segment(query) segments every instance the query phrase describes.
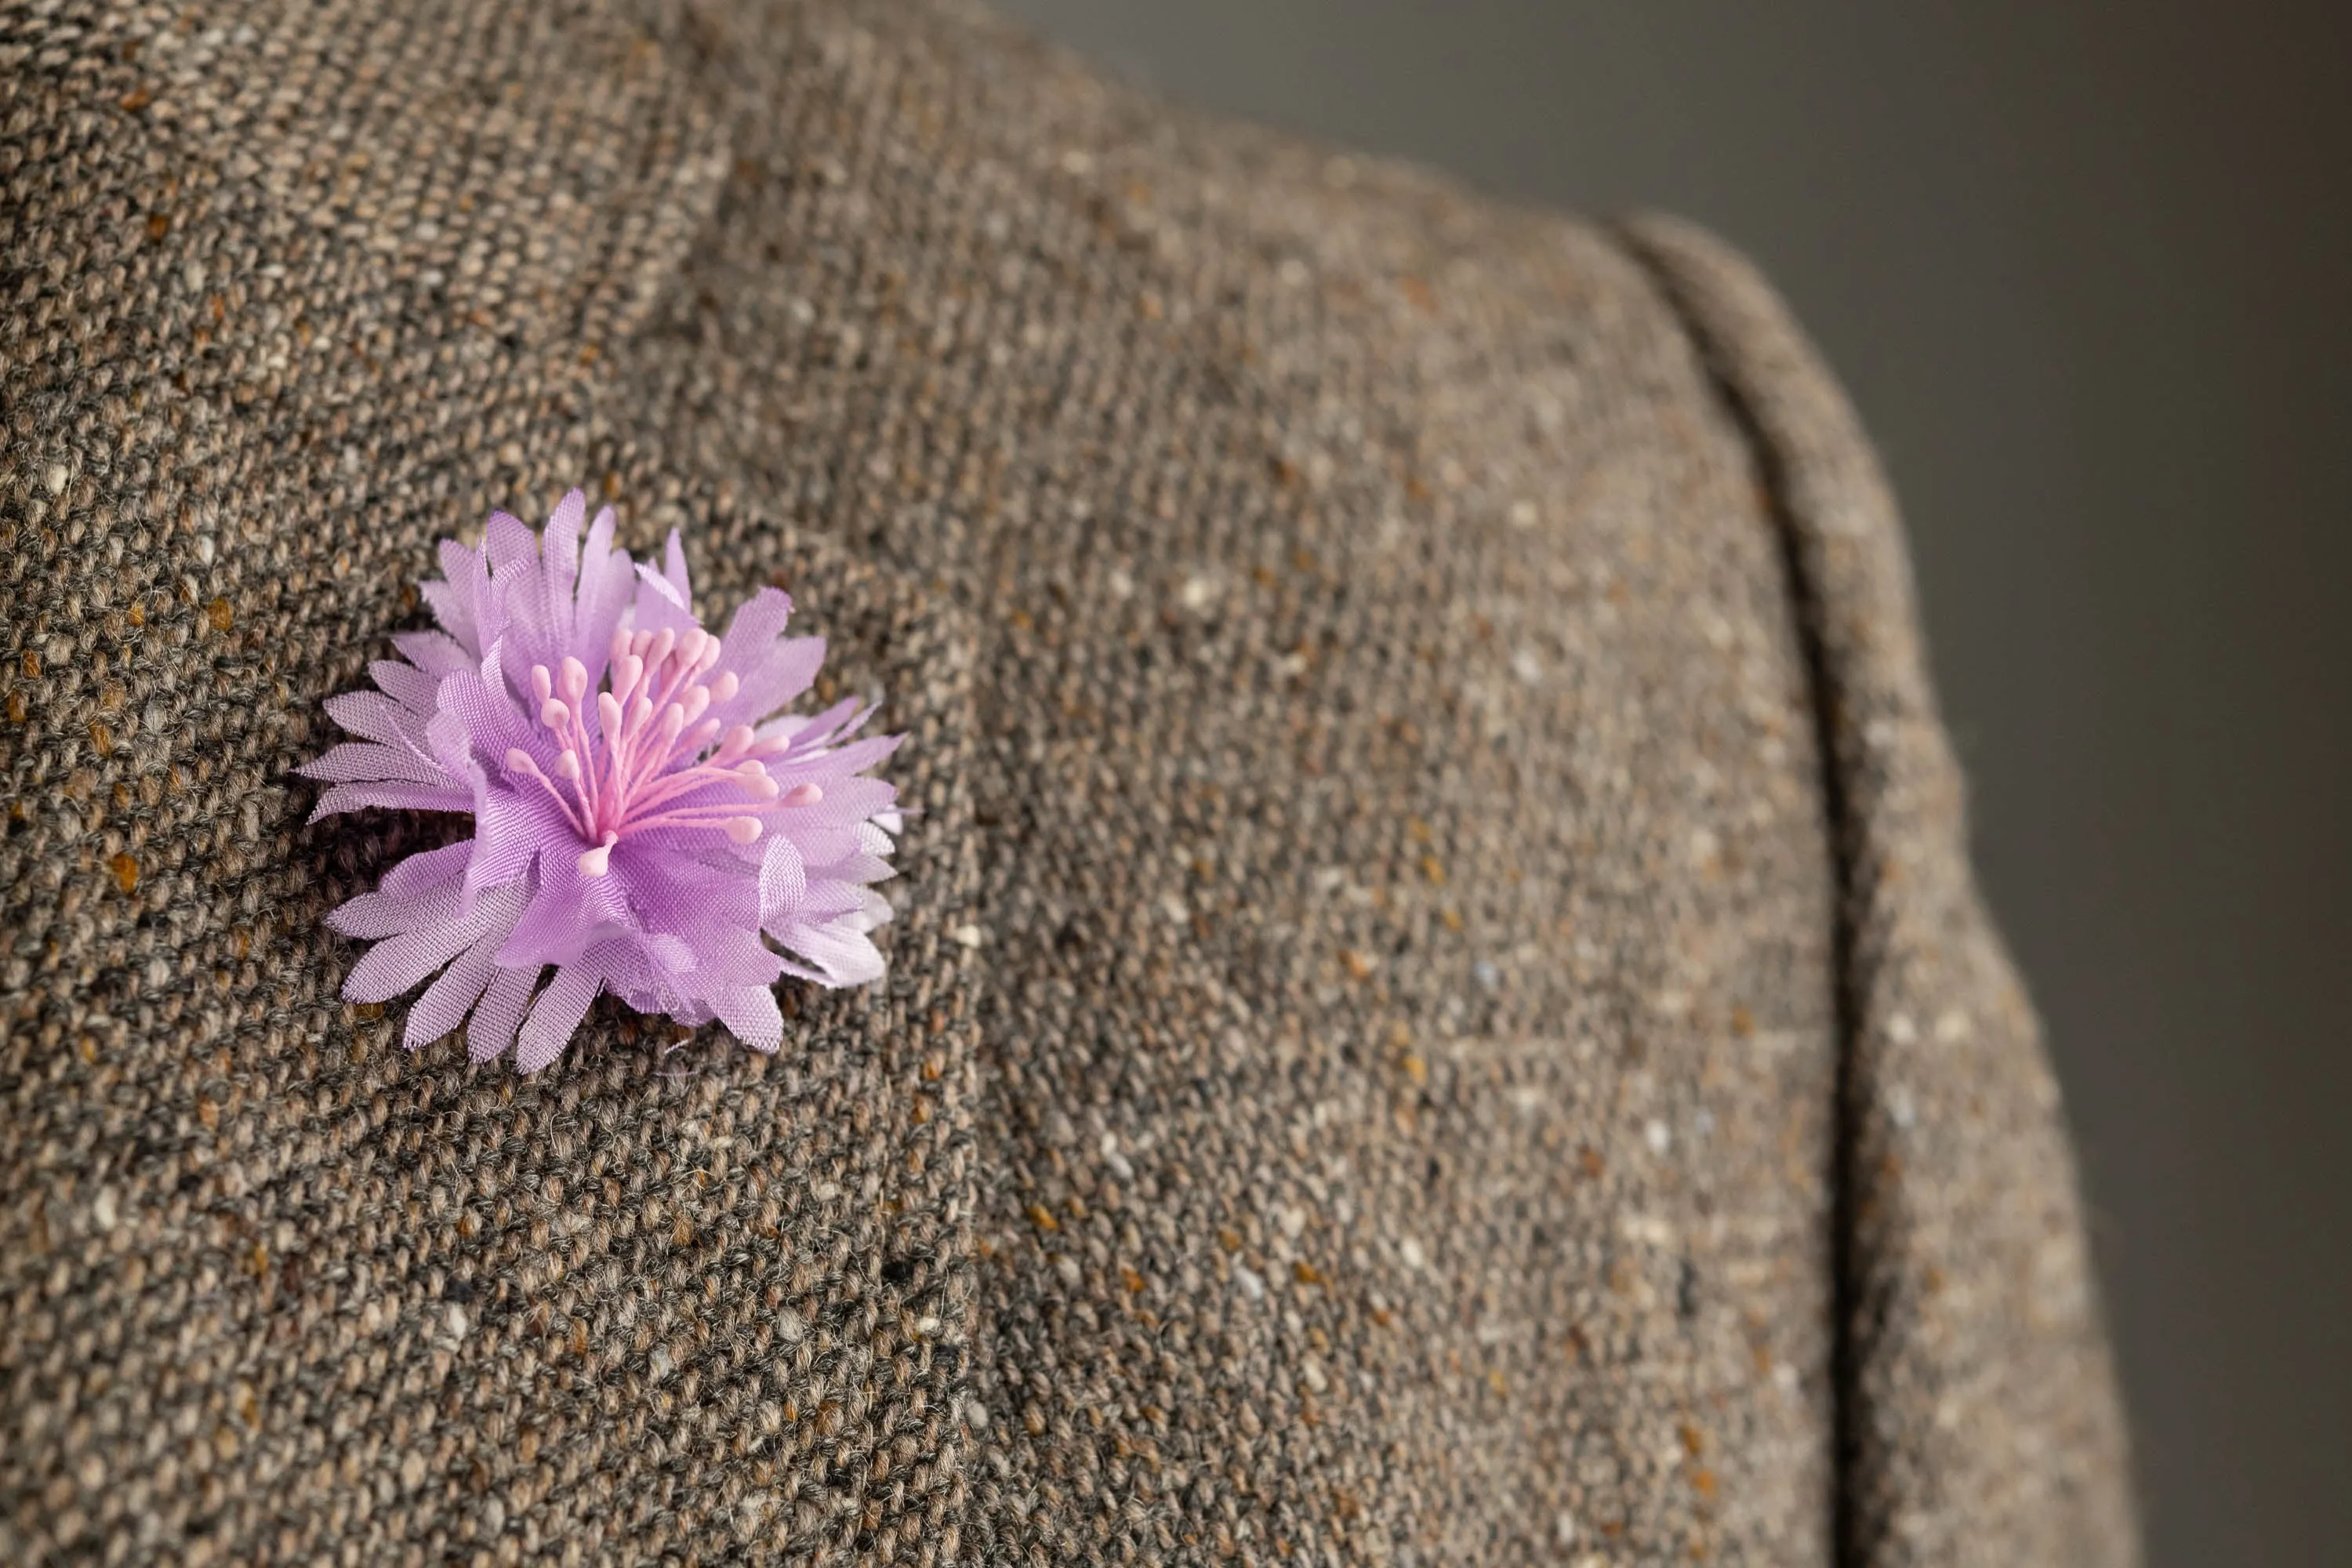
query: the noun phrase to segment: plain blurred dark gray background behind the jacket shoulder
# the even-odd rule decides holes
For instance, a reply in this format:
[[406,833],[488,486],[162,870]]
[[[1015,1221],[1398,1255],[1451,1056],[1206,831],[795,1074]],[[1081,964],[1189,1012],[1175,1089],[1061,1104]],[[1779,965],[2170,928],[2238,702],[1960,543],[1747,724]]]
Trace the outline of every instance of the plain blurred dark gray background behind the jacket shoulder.
[[1762,261],[1905,501],[2152,1563],[2352,1563],[2352,7],[1000,2]]

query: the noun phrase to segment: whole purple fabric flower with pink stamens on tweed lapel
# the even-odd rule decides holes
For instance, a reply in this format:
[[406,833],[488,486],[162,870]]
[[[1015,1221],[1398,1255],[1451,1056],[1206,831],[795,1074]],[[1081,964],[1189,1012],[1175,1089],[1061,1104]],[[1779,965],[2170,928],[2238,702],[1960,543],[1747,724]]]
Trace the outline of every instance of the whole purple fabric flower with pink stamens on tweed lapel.
[[543,536],[492,512],[480,550],[442,541],[423,583],[440,630],[393,637],[374,691],[327,701],[358,738],[301,769],[329,785],[310,820],[473,816],[470,839],[327,917],[374,943],[343,997],[430,978],[409,1048],[463,1023],[473,1060],[515,1046],[524,1072],[562,1056],[600,992],[774,1051],[779,978],[882,973],[873,884],[901,818],[863,773],[901,738],[856,738],[873,717],[856,701],[779,712],[826,658],[821,637],[783,637],[793,599],[762,588],[713,637],[677,534],[654,571],[612,548],[612,508],[583,548],[586,510],[572,491]]

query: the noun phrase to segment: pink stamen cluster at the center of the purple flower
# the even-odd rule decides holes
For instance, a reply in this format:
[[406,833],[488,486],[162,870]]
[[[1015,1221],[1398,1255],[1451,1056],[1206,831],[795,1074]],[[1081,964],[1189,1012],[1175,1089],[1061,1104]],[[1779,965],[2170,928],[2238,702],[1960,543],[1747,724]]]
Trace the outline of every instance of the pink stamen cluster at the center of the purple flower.
[[[717,661],[720,639],[699,625],[684,635],[670,628],[616,630],[604,691],[595,693],[595,733],[581,719],[586,665],[569,656],[553,675],[532,665],[539,724],[555,736],[555,778],[539,771],[522,748],[506,752],[506,766],[562,806],[588,844],[581,851],[583,877],[602,877],[612,867],[612,846],[633,832],[708,827],[750,844],[767,813],[823,799],[814,783],[783,790],[769,778],[762,759],[788,750],[790,741],[760,741],[748,724],[722,733],[717,719],[703,717],[713,703],[736,693],[734,670],[710,675]],[[717,750],[710,750],[713,741]],[[687,799],[713,785],[727,785],[729,797]]]

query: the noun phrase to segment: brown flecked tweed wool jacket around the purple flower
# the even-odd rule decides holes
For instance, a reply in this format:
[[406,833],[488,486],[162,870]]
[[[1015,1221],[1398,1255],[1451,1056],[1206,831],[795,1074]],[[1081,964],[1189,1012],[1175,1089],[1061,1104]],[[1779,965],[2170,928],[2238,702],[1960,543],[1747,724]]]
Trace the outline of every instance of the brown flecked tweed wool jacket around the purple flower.
[[[774,1058],[397,1048],[430,545],[788,583]],[[2053,1079],[1778,303],[985,14],[0,2],[0,1559],[2131,1563]]]

